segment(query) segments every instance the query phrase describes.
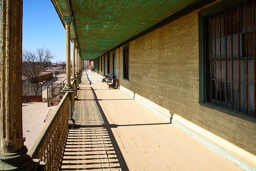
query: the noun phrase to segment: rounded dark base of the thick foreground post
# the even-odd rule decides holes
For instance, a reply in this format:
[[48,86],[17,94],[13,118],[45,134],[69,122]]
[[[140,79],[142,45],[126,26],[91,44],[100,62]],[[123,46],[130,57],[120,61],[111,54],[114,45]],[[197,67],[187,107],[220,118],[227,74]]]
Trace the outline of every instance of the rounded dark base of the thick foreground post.
[[34,162],[29,155],[26,146],[17,153],[0,153],[1,171],[32,171]]

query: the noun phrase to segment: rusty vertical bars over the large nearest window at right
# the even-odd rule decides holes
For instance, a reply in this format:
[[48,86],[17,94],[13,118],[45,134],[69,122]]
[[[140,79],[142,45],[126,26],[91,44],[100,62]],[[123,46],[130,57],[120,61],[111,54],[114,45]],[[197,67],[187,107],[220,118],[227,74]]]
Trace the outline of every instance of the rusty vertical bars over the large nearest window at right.
[[254,3],[245,1],[206,17],[210,76],[207,101],[256,117]]

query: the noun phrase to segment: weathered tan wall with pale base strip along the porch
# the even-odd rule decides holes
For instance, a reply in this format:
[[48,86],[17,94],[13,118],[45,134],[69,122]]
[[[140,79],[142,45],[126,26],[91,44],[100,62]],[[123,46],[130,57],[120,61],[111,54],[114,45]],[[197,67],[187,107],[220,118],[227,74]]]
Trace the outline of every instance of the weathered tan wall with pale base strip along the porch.
[[118,48],[121,89],[256,166],[256,123],[198,103],[200,10],[130,42],[129,81],[122,79],[123,48]]

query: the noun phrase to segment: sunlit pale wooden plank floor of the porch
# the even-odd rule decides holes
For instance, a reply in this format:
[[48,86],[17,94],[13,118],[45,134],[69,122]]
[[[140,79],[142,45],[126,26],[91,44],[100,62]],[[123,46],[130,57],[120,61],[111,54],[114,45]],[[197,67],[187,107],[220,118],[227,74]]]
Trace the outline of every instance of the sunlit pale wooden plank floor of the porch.
[[84,72],[62,171],[242,170],[96,73]]

